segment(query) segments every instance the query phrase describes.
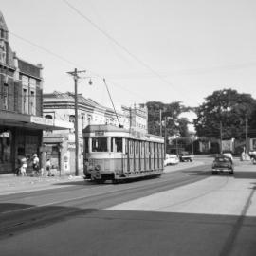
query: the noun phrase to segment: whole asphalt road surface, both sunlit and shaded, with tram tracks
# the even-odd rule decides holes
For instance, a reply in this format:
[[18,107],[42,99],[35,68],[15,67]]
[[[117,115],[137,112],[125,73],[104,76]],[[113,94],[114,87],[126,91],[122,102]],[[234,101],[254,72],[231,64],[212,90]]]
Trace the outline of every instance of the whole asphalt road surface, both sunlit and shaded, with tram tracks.
[[0,254],[256,255],[256,174],[236,169],[171,166],[160,178],[1,196]]

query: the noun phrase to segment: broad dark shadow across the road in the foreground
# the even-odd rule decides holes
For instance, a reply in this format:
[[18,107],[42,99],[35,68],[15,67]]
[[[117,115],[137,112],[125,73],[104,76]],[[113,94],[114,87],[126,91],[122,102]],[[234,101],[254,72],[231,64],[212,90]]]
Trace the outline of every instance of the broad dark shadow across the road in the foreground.
[[0,214],[2,255],[256,255],[255,217],[32,207],[0,204],[25,209]]

